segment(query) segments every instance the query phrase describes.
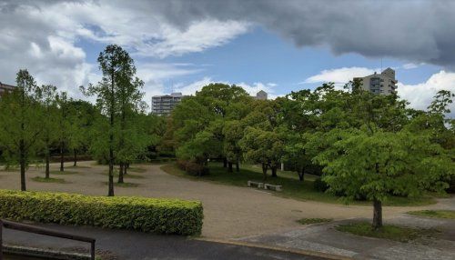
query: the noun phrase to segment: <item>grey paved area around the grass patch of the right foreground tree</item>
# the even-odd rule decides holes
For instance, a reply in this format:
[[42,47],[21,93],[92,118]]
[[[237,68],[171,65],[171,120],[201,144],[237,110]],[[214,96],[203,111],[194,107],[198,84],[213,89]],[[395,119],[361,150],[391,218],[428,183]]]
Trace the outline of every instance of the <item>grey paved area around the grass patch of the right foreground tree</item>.
[[353,259],[455,259],[455,220],[411,215],[401,215],[390,219],[388,224],[432,228],[440,231],[434,237],[421,237],[408,243],[350,235],[335,229],[335,225],[352,221],[370,221],[370,219],[351,219],[326,225],[307,225],[276,234],[243,237],[238,241],[343,255]]

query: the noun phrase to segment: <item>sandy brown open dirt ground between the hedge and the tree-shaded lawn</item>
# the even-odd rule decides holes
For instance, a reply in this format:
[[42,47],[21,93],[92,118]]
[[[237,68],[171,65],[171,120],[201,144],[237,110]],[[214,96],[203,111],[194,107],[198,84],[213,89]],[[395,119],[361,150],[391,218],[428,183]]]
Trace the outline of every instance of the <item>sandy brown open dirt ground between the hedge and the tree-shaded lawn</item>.
[[[58,191],[85,195],[106,195],[106,166],[84,162],[77,168],[76,175],[54,175],[64,178],[67,184],[37,183],[30,178],[43,175],[44,169],[31,168],[27,173],[28,190]],[[136,166],[136,165],[135,165]],[[268,192],[247,187],[217,185],[197,182],[167,175],[159,165],[140,165],[147,169],[143,173],[131,173],[141,178],[126,178],[126,182],[138,184],[136,187],[116,187],[116,195],[140,195],[147,197],[167,197],[200,200],[204,205],[204,227],[202,235],[210,238],[235,238],[260,235],[270,232],[291,230],[300,225],[296,220],[303,217],[324,217],[336,220],[353,217],[370,217],[369,206],[331,205],[319,202],[302,202],[272,195]],[[53,170],[58,165],[52,165]],[[19,189],[19,175],[0,171],[0,188]],[[410,210],[432,208],[439,205],[420,207],[385,207],[386,219],[396,217]]]

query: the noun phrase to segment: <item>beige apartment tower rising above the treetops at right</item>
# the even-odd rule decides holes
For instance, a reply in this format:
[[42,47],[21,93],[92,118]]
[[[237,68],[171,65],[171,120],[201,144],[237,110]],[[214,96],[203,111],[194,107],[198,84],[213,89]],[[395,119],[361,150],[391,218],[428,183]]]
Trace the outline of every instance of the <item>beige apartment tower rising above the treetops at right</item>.
[[395,71],[391,68],[386,68],[380,74],[375,72],[373,75],[354,79],[360,79],[361,87],[373,94],[390,95],[397,92],[398,80],[395,79]]

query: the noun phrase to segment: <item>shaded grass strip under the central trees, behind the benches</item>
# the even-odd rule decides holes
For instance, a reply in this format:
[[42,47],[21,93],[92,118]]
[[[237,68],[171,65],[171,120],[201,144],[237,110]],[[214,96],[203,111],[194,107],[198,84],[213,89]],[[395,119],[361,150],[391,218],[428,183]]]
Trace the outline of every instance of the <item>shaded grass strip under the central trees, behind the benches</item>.
[[[211,181],[225,185],[247,186],[248,181],[263,181],[262,170],[256,165],[241,165],[240,172],[227,173],[227,169],[221,163],[210,163],[209,175],[202,177],[188,175],[185,171],[177,167],[177,164],[167,164],[161,166],[161,169],[167,174],[185,177],[195,181]],[[338,196],[330,195],[328,193],[319,192],[313,186],[314,180],[317,178],[315,175],[305,175],[305,181],[298,181],[297,173],[281,172],[278,171],[278,177],[272,178],[270,171],[268,171],[268,178],[265,181],[271,185],[282,185],[282,192],[269,191],[275,195],[288,197],[298,200],[312,200],[331,204],[344,204],[345,202]],[[436,203],[436,200],[431,196],[421,198],[407,198],[407,197],[391,197],[384,205],[431,205]],[[354,201],[349,205],[371,205],[368,201]]]

